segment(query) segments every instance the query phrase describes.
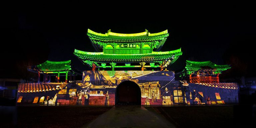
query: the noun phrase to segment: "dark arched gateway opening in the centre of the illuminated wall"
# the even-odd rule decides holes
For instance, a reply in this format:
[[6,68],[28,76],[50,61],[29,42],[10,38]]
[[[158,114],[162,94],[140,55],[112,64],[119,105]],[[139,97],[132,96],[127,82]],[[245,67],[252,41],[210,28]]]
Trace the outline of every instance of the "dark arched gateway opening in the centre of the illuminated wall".
[[141,105],[139,85],[132,81],[121,82],[116,88],[115,105]]

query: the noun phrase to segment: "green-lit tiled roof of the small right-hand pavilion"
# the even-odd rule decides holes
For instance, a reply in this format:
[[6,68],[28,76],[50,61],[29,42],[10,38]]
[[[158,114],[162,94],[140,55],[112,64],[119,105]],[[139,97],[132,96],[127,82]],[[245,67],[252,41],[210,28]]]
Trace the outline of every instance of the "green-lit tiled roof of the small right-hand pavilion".
[[221,72],[221,71],[231,68],[229,65],[217,65],[217,64],[212,63],[211,61],[196,62],[196,61],[189,61],[189,60],[186,61],[185,68],[188,71],[198,71],[198,70],[200,70],[202,68],[206,68],[206,67],[212,68],[212,69],[214,69],[214,71],[217,71],[217,72]]

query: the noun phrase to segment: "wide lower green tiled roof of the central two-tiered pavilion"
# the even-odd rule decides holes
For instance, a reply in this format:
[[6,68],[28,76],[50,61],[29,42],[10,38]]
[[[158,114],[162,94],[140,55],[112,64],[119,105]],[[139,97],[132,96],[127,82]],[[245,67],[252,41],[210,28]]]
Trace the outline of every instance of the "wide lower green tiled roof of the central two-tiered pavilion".
[[103,52],[85,52],[76,50],[74,54],[84,63],[87,61],[96,63],[127,63],[127,62],[161,62],[170,59],[171,64],[174,63],[180,55],[181,49],[167,51],[167,52],[152,52],[149,54],[104,54]]

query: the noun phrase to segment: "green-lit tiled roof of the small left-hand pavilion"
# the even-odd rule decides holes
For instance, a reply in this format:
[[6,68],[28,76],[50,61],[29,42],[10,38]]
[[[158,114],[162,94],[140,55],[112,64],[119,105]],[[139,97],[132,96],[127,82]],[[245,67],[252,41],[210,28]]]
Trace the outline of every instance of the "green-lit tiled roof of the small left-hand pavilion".
[[29,66],[28,71],[40,72],[40,73],[56,73],[65,72],[71,70],[71,60],[68,61],[45,61],[42,64]]

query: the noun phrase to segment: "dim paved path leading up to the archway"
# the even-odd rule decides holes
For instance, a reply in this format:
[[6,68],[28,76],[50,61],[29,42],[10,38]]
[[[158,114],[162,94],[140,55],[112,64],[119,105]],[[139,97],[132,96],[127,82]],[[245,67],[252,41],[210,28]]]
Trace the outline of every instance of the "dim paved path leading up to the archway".
[[161,115],[143,106],[113,106],[83,128],[175,128]]

